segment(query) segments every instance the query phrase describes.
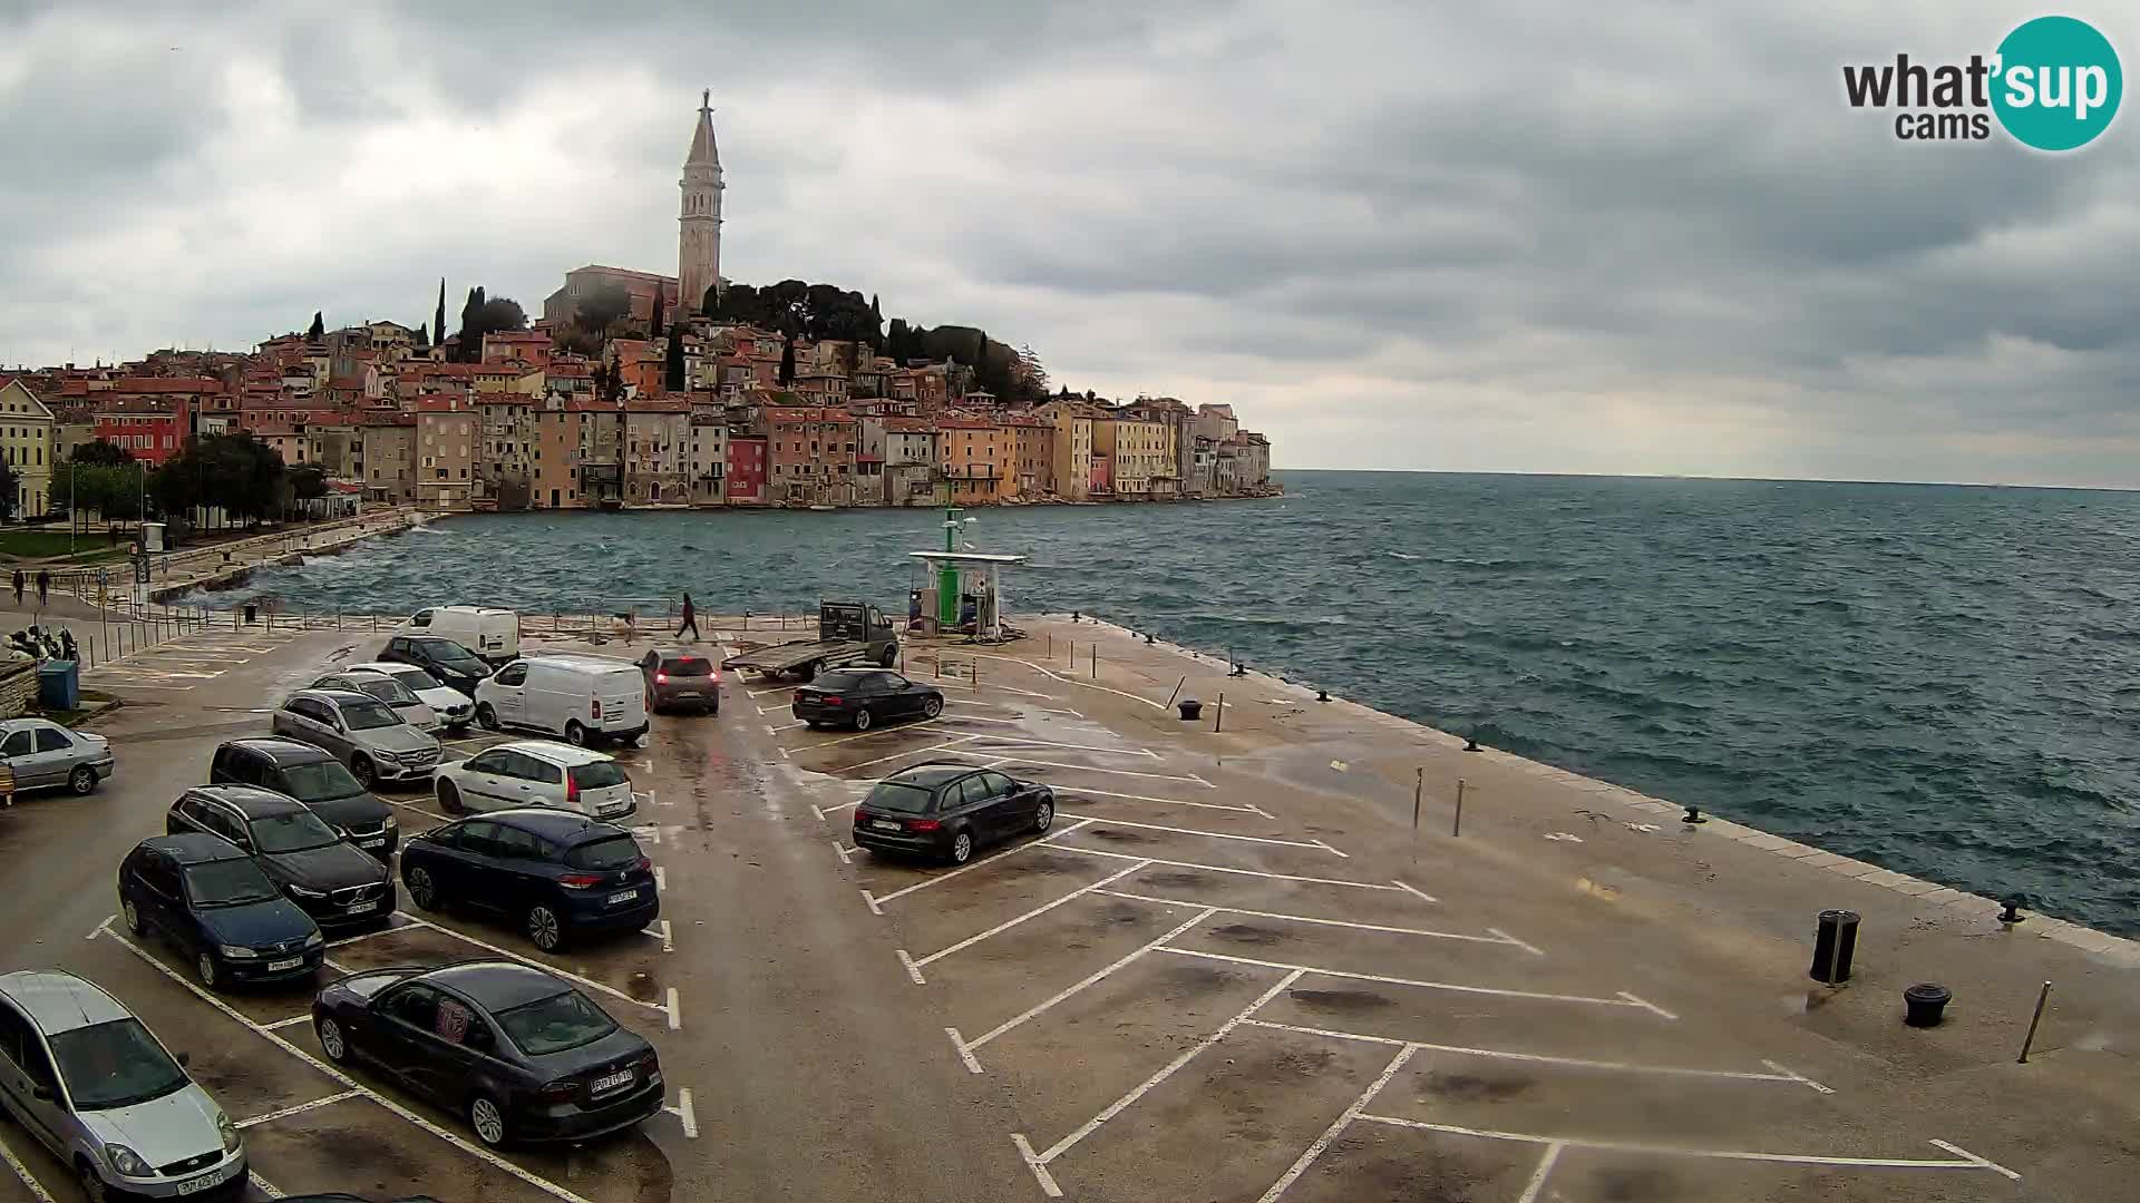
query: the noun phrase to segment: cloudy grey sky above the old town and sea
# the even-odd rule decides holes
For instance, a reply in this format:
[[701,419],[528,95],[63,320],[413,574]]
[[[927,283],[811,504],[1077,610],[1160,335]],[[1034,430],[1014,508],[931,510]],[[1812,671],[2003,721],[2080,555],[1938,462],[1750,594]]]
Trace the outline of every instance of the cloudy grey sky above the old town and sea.
[[[2061,11],[2140,68],[2140,9]],[[2140,488],[2140,111],[2042,154],[1843,98],[2042,13],[0,0],[0,364],[674,274],[710,88],[730,280],[1230,402],[1280,469]]]

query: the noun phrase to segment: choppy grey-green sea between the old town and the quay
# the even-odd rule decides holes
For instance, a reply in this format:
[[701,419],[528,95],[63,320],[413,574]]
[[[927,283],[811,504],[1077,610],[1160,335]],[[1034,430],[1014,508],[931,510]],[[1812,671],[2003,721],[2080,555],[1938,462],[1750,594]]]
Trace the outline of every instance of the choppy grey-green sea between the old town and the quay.
[[[969,509],[1083,610],[1547,764],[2140,935],[2140,494],[1275,473],[1284,497]],[[905,612],[939,509],[437,518],[231,604]]]

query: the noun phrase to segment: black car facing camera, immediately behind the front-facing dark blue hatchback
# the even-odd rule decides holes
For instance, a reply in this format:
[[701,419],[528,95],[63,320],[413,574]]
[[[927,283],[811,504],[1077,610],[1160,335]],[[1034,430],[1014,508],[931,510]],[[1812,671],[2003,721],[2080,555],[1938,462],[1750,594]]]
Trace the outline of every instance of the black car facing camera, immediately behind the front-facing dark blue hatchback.
[[171,803],[165,831],[229,839],[327,931],[385,923],[394,875],[297,798],[250,786],[195,786]]

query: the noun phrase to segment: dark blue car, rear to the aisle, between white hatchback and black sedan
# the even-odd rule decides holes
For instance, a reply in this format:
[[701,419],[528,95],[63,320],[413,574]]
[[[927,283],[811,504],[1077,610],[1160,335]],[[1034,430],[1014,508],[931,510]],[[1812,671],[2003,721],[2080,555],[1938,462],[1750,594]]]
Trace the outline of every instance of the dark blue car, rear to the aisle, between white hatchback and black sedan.
[[424,910],[467,903],[501,912],[544,953],[576,935],[640,929],[661,916],[653,861],[629,831],[539,807],[409,837],[402,882]]

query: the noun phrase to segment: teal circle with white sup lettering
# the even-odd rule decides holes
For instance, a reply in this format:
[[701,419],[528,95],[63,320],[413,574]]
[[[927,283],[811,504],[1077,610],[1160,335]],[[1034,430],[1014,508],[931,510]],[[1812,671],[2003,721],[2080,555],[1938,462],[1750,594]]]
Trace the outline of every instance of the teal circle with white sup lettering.
[[2125,94],[2119,51],[2095,26],[2037,17],[1999,43],[1992,111],[2022,146],[2076,150],[2110,128]]

